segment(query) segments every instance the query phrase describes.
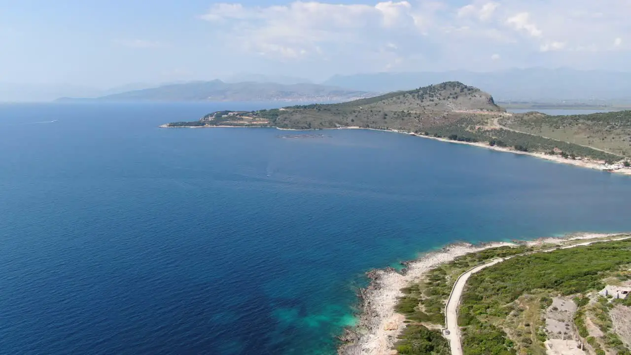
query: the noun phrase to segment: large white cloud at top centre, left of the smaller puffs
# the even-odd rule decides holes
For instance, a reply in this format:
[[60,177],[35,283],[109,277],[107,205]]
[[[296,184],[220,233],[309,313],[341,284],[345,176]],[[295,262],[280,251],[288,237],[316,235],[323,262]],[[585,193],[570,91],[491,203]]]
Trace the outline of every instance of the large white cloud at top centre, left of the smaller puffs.
[[418,32],[416,23],[420,19],[413,15],[413,6],[408,1],[386,1],[374,6],[297,1],[285,6],[250,8],[241,4],[215,4],[201,18],[228,25],[226,30],[232,32],[232,45],[290,60],[322,56],[322,46],[327,44],[352,46],[371,36],[373,40],[386,41],[389,36],[385,33],[401,28]]

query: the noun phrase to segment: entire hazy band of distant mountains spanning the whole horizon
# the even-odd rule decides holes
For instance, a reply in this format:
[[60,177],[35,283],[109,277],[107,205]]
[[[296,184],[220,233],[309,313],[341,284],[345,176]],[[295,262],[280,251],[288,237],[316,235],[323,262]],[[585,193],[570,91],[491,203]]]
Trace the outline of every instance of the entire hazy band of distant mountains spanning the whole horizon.
[[[51,101],[59,97],[91,100],[297,100],[322,102],[370,93],[412,90],[445,81],[462,81],[507,101],[620,100],[631,102],[631,73],[576,69],[509,69],[489,73],[444,71],[335,75],[321,83],[305,78],[240,73],[223,81],[131,83],[107,90],[77,85],[0,83],[0,102]],[[68,100],[68,99],[64,99]],[[75,99],[73,99],[75,100]]]

